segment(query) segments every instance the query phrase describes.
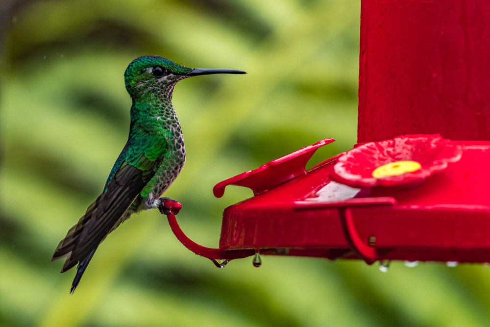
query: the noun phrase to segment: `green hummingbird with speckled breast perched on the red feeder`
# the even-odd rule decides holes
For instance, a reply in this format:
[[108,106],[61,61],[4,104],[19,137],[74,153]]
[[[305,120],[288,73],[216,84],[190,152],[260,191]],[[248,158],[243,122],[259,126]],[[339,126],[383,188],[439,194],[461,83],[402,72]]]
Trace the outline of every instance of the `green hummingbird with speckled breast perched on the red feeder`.
[[77,270],[73,293],[98,245],[132,214],[159,208],[171,214],[161,197],[185,163],[184,139],[172,105],[173,88],[184,78],[209,74],[246,74],[231,69],[179,65],[160,56],[133,60],[124,72],[131,96],[129,136],[102,193],[59,243],[51,261],[66,258],[61,273]]

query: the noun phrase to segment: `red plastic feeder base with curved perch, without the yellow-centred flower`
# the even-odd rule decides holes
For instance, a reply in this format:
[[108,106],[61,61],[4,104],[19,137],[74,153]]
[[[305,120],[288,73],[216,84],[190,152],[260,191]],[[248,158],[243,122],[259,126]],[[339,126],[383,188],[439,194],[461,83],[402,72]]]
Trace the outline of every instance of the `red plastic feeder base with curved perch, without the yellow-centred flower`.
[[490,142],[454,142],[461,160],[421,184],[356,189],[331,180],[337,159],[305,171],[311,155],[332,141],[217,184],[218,197],[227,185],[249,187],[255,196],[224,210],[219,249],[183,243],[221,260],[260,252],[368,263],[490,262],[490,174],[481,173],[490,164]]

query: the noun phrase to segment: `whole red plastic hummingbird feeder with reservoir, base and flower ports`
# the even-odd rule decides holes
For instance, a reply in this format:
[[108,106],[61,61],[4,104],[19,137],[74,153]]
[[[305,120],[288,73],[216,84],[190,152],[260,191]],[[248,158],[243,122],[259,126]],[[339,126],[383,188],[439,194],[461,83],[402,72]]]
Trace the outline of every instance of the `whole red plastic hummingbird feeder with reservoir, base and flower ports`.
[[332,139],[218,183],[217,197],[254,197],[224,210],[218,249],[169,215],[188,249],[218,266],[259,252],[490,262],[490,2],[363,0],[359,63],[359,143],[308,171]]

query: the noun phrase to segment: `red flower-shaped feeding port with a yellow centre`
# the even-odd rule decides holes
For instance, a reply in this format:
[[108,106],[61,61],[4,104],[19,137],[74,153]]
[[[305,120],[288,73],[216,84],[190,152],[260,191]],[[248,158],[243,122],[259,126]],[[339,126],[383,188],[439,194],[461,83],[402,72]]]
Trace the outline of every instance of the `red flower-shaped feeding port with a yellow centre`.
[[409,186],[461,159],[462,150],[441,135],[401,135],[344,152],[331,179],[355,188]]

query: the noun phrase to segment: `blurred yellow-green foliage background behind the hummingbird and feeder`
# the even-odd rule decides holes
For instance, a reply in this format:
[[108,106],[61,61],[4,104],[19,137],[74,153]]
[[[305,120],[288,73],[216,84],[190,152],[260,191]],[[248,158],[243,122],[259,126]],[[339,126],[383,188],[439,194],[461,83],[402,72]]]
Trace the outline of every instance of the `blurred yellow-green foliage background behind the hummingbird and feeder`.
[[158,54],[248,75],[187,79],[173,103],[187,163],[167,196],[197,243],[251,196],[212,187],[323,138],[356,139],[359,0],[1,1],[1,326],[488,326],[490,268],[264,256],[224,269],[185,249],[157,210],[74,270],[50,262],[127,138],[123,72]]

